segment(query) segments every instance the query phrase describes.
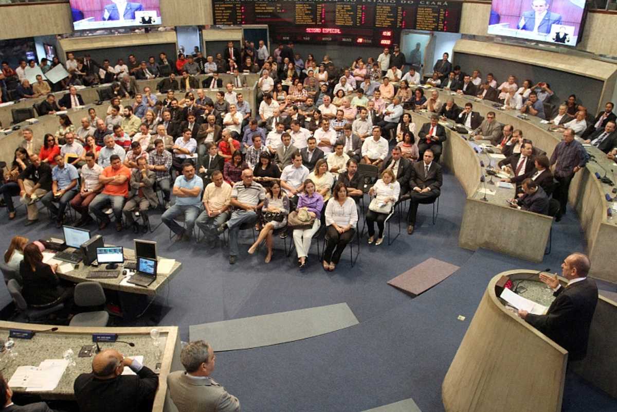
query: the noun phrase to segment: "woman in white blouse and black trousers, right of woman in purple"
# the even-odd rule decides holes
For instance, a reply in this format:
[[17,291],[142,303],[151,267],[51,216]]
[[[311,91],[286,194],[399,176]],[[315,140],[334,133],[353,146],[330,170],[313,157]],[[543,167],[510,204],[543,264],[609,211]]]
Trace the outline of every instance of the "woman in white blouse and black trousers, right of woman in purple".
[[[323,268],[333,271],[341,259],[341,253],[354,239],[358,210],[355,202],[347,197],[347,187],[342,182],[334,186],[333,200],[326,206],[326,250],[323,252]],[[335,250],[336,248],[336,250]]]

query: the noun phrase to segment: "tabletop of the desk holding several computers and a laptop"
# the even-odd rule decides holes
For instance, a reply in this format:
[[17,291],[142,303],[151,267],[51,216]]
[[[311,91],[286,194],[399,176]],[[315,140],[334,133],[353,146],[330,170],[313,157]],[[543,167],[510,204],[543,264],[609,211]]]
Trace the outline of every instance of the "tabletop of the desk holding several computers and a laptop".
[[[125,260],[135,260],[135,250],[133,249],[125,248],[124,255],[125,255]],[[159,256],[159,260],[161,258],[162,257]],[[86,275],[90,271],[105,270],[105,266],[104,265],[99,265],[98,267],[85,266],[83,264],[83,261],[80,262],[79,268],[77,270],[74,269],[68,273],[58,272],[58,276],[62,279],[66,279],[67,281],[71,281],[75,283],[89,282],[89,281],[99,282],[104,289],[119,290],[120,292],[128,292],[128,293],[134,293],[134,294],[139,294],[139,295],[155,295],[162,286],[164,286],[165,284],[170,282],[173,278],[175,278],[176,274],[180,272],[181,268],[182,268],[182,263],[176,260],[176,262],[173,264],[173,268],[170,273],[157,274],[156,280],[152,282],[152,284],[146,287],[133,285],[133,284],[121,285],[120,282],[122,282],[122,279],[124,279],[124,277],[122,276],[122,273],[120,273],[120,276],[118,276],[115,279],[88,279],[86,278]],[[117,270],[122,272],[123,266],[121,264],[118,265]]]

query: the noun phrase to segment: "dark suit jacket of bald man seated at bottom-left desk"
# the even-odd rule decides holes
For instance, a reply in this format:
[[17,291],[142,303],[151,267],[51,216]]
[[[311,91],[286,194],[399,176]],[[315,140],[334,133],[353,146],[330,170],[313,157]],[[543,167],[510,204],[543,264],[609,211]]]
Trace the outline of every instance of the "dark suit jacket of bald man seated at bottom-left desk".
[[136,412],[152,408],[158,386],[159,376],[143,366],[136,376],[113,379],[98,379],[93,373],[82,373],[75,379],[73,390],[81,411]]

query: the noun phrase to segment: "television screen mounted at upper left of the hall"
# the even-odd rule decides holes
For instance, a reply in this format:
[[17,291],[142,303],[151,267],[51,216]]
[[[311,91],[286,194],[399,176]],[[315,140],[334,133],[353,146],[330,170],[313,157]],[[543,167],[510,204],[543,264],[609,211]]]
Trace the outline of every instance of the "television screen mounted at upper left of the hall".
[[159,0],[70,0],[73,28],[160,25]]

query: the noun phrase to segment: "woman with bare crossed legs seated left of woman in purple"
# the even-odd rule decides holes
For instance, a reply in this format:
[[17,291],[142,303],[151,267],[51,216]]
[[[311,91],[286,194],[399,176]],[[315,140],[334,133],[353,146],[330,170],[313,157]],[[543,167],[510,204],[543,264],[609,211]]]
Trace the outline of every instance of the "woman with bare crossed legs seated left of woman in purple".
[[249,253],[252,255],[257,250],[261,242],[266,241],[268,253],[265,258],[266,263],[270,263],[272,258],[272,232],[275,229],[284,228],[287,225],[287,215],[289,215],[289,198],[284,191],[281,191],[281,182],[273,181],[272,185],[267,188],[265,200],[263,200],[262,216],[265,224],[262,231],[254,244],[249,248]]

